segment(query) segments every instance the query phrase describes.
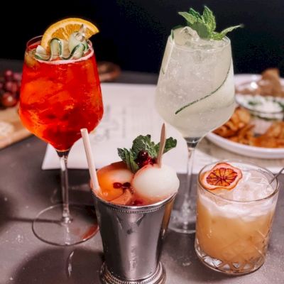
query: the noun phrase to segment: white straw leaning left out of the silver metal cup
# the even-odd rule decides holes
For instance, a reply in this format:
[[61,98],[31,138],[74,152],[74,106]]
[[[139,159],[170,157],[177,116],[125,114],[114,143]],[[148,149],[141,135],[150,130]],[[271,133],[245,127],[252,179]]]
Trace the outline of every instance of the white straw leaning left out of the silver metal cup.
[[97,170],[94,165],[94,156],[92,155],[91,143],[89,142],[89,133],[87,129],[81,129],[81,135],[84,143],[84,151],[86,152],[87,162],[89,165],[89,175],[91,176],[94,190],[99,190],[99,180],[97,179]]

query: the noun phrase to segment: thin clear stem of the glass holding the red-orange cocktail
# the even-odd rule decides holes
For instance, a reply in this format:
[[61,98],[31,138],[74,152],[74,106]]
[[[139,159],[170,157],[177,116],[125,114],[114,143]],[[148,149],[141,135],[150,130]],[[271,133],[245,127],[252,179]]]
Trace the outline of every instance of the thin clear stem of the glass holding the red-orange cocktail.
[[62,222],[68,224],[72,221],[69,210],[69,192],[68,192],[68,173],[67,173],[67,159],[70,150],[57,151],[60,158],[61,170],[61,191],[62,191]]

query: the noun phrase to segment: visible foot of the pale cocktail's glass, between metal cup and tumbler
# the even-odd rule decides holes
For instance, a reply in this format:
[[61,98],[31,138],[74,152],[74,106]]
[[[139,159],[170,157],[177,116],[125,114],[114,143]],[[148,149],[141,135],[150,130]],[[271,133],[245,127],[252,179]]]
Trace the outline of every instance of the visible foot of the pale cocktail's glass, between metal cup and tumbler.
[[195,233],[196,215],[195,210],[187,209],[187,212],[182,212],[173,209],[170,215],[169,229],[182,234]]

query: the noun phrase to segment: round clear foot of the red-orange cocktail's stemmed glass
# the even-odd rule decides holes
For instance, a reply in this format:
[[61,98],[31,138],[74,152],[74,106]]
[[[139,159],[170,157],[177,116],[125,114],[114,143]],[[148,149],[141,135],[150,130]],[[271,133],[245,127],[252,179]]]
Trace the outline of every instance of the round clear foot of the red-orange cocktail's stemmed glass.
[[33,221],[33,233],[41,241],[57,246],[72,246],[94,236],[99,227],[94,207],[70,205],[71,221],[62,220],[62,204],[41,211]]

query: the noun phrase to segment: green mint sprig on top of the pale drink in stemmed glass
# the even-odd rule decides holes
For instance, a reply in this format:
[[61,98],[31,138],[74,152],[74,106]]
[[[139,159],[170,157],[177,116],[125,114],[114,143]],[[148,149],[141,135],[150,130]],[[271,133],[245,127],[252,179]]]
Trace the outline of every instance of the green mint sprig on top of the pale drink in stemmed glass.
[[187,26],[197,31],[200,38],[205,39],[222,40],[222,38],[224,38],[227,33],[243,26],[231,26],[229,28],[225,28],[222,32],[217,33],[217,31],[215,31],[215,16],[207,6],[204,6],[204,11],[202,15],[192,8],[190,8],[190,11],[188,12],[179,12],[179,14],[180,16],[185,18],[185,20],[187,21]]

